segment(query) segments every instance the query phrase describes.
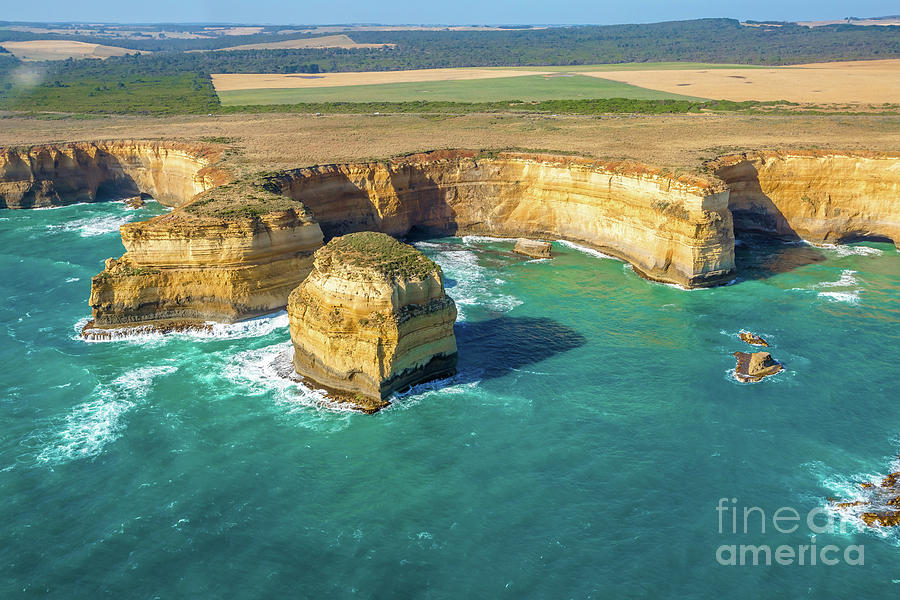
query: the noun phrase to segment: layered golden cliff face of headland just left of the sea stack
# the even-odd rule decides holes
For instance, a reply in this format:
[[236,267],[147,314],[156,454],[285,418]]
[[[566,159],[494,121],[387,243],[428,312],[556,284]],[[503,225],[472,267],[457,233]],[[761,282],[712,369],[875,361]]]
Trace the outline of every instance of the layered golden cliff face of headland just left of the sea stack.
[[125,254],[91,281],[85,330],[233,322],[285,306],[322,231],[294,210],[211,219],[184,211],[122,226]]

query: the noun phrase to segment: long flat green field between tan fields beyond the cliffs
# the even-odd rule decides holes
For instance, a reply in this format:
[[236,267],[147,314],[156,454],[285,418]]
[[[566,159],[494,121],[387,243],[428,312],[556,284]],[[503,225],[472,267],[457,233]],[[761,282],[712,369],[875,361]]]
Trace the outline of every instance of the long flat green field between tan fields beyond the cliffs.
[[501,100],[581,100],[629,98],[638,100],[696,100],[640,88],[626,83],[564,74],[555,77],[529,75],[470,81],[383,83],[305,89],[254,89],[219,92],[225,106],[244,104],[297,104],[305,102],[496,102]]

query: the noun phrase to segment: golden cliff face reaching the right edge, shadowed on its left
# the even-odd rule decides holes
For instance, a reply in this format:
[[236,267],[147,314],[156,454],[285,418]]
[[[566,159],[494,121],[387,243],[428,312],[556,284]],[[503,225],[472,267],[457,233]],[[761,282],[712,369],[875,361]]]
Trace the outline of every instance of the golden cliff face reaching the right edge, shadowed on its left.
[[900,155],[755,152],[709,167],[731,191],[738,232],[813,243],[900,244]]

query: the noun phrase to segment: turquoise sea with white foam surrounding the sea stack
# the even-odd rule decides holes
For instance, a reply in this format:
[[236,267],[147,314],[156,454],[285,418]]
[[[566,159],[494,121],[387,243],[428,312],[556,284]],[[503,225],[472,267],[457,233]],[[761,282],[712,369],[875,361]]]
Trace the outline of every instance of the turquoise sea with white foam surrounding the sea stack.
[[[895,597],[864,565],[723,566],[720,498],[805,514],[897,470],[900,253],[738,248],[683,291],[556,244],[420,242],[460,307],[460,372],[375,416],[278,379],[284,314],[87,343],[118,203],[0,212],[0,597]],[[784,372],[730,374],[748,329]]]

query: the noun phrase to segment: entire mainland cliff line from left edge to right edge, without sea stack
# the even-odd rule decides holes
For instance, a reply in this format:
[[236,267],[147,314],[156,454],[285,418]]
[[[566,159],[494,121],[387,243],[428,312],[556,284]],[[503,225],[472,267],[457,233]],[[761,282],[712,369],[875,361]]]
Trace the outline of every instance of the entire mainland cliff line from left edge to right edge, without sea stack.
[[19,207],[110,189],[181,205],[122,228],[125,255],[93,281],[93,328],[166,329],[283,308],[323,238],[359,231],[566,239],[684,287],[731,280],[735,231],[900,239],[898,154],[756,152],[677,176],[628,161],[442,150],[223,183],[217,152],[155,142],[6,149],[0,191]]

